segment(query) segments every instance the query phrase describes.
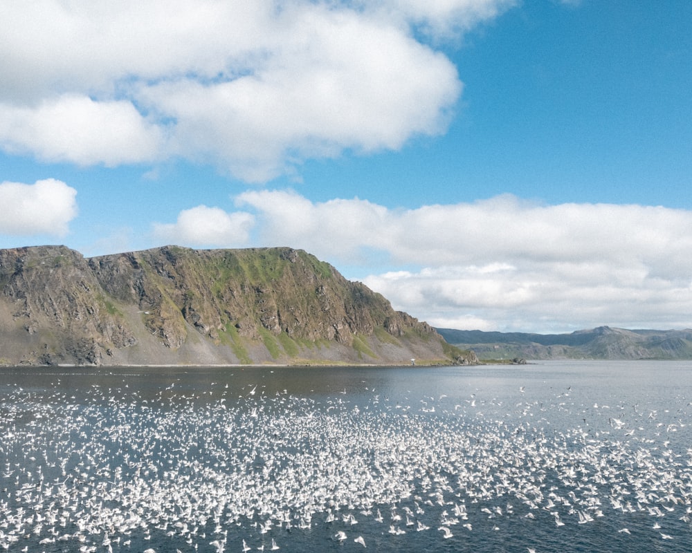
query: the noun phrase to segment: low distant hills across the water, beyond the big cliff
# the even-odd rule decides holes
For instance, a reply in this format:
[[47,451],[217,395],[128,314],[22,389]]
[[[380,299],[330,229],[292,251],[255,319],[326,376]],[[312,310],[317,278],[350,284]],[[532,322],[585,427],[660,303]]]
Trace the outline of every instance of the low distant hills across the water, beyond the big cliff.
[[692,330],[626,330],[599,326],[570,334],[437,328],[450,344],[480,359],[692,359]]

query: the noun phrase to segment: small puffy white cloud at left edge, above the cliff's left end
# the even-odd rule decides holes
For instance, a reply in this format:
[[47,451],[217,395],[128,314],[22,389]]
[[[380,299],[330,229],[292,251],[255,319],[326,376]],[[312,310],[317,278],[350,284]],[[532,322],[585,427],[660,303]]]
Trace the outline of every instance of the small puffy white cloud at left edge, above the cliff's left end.
[[55,179],[0,183],[0,232],[10,236],[65,236],[77,216],[77,191]]

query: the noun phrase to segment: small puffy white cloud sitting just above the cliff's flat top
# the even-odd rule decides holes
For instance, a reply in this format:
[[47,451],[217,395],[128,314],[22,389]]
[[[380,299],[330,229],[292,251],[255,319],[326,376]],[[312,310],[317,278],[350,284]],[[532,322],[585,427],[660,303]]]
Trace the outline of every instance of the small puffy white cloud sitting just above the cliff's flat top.
[[248,243],[254,224],[251,214],[198,205],[180,212],[176,223],[155,223],[154,234],[168,243],[240,247]]

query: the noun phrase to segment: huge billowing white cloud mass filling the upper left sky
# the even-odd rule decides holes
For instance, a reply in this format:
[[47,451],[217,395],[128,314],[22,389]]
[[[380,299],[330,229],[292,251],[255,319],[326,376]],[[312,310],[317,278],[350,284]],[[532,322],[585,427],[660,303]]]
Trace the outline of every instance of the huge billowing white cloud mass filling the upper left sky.
[[80,165],[171,156],[248,181],[444,132],[434,41],[508,0],[60,0],[0,5],[0,147]]

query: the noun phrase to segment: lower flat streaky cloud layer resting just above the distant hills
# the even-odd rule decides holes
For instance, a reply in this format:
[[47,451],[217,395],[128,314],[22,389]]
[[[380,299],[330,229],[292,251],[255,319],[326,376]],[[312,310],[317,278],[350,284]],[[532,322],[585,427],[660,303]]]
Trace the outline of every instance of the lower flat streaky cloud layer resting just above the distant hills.
[[[575,265],[576,270],[580,268]],[[395,306],[424,314],[430,324],[446,328],[565,332],[599,324],[691,326],[691,283],[648,276],[632,279],[626,267],[612,274],[606,263],[581,269],[590,274],[590,281],[565,278],[550,263],[482,279],[463,273],[450,278],[433,271],[399,280],[388,274],[373,275],[364,281]],[[621,279],[621,274],[626,278]],[[412,290],[420,290],[421,299],[405,303],[415,297]],[[455,326],[460,319],[473,319],[477,326]]]

